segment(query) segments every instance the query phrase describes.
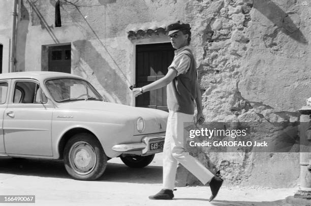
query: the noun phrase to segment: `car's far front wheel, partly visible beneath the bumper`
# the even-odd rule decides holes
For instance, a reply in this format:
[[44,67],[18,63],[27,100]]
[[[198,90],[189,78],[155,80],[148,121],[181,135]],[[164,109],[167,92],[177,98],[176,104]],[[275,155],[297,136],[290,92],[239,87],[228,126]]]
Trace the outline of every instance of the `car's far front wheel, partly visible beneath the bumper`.
[[154,158],[154,154],[147,156],[139,156],[139,155],[128,155],[124,157],[120,157],[123,163],[125,163],[130,168],[143,168],[151,163]]

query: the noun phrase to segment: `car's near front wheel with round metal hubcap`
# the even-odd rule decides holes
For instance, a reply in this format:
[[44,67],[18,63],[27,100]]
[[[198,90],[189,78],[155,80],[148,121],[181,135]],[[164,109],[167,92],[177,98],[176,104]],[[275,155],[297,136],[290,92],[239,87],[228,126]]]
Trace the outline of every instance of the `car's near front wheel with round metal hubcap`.
[[70,138],[64,149],[64,163],[76,180],[96,180],[107,167],[107,156],[94,135],[81,133]]

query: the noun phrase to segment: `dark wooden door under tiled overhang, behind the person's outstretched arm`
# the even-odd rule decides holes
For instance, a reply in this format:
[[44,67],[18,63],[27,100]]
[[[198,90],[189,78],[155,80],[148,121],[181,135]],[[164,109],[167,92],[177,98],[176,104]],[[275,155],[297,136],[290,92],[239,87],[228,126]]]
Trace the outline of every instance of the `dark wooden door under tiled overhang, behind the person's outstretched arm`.
[[[170,43],[136,46],[136,86],[142,87],[165,76],[174,58]],[[168,111],[166,87],[146,92],[136,98],[137,107]]]

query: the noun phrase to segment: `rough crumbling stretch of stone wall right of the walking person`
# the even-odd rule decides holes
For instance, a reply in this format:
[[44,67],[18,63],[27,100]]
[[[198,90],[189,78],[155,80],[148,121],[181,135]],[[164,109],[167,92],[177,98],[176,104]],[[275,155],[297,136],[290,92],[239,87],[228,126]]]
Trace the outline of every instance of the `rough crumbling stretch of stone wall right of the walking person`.
[[[288,122],[282,129],[299,138],[297,111],[311,96],[310,8],[294,0],[187,4],[207,121]],[[299,153],[194,155],[227,184],[284,187],[299,176]],[[179,185],[198,183],[179,171]]]

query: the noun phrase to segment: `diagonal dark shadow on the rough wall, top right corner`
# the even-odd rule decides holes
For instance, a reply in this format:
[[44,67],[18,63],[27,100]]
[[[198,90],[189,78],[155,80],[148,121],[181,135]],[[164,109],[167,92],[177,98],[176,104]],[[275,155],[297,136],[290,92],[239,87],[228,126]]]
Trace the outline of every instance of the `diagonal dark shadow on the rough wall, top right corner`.
[[296,13],[285,13],[271,0],[254,1],[253,8],[267,17],[278,28],[282,29],[286,35],[301,44],[308,44],[305,36],[299,30],[300,19]]

